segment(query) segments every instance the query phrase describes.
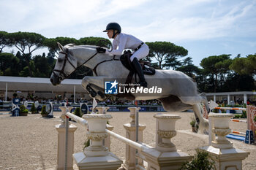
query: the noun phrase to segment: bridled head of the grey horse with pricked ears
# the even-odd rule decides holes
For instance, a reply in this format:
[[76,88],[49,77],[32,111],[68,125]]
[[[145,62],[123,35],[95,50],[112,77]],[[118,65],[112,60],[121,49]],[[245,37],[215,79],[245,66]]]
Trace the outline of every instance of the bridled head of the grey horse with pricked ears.
[[61,51],[59,52],[53,73],[50,76],[50,82],[53,85],[59,85],[62,80],[69,77],[78,67],[78,61],[72,56],[72,53],[69,52],[68,45],[63,47],[59,42],[57,44]]

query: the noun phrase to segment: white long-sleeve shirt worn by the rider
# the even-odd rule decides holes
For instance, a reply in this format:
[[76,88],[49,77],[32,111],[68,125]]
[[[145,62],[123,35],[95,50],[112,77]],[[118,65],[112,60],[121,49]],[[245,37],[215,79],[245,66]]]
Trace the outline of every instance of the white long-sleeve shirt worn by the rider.
[[113,40],[113,50],[111,52],[107,50],[106,53],[113,55],[121,55],[123,53],[123,50],[135,50],[135,48],[137,48],[141,43],[142,41],[136,38],[135,36],[120,33]]

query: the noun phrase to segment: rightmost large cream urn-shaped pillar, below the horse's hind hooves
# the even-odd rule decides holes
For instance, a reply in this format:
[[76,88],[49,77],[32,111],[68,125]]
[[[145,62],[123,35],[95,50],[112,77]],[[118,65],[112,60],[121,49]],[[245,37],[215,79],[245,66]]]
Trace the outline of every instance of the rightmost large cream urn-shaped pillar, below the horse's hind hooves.
[[230,118],[232,114],[218,114],[211,113],[209,115],[211,121],[213,121],[213,127],[209,129],[215,137],[211,141],[211,146],[200,147],[200,150],[205,150],[209,153],[211,158],[215,162],[215,169],[242,169],[242,160],[244,160],[249,152],[239,150],[233,147],[233,144],[225,137],[230,134],[231,129],[229,128]]

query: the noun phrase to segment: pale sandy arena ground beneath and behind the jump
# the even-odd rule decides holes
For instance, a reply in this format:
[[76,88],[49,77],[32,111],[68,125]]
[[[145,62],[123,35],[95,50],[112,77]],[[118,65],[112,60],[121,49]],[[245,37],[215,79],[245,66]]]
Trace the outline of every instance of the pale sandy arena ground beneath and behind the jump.
[[[140,112],[140,124],[146,125],[143,132],[143,142],[154,147],[155,144],[155,115],[157,112]],[[113,116],[110,125],[113,131],[125,136],[123,124],[129,123],[129,112],[108,112]],[[195,154],[197,147],[208,145],[208,136],[191,132],[189,122],[193,117],[192,112],[176,112],[181,120],[176,122],[177,136],[172,139],[178,150]],[[10,117],[0,115],[0,169],[55,169],[57,157],[57,131],[55,125],[61,123],[60,112],[54,112],[55,118],[42,118],[40,115],[28,115],[27,117]],[[75,152],[83,150],[86,141],[85,131],[82,125],[75,131]],[[246,123],[230,122],[230,128],[235,131],[246,131]],[[243,161],[244,170],[256,170],[256,145],[244,144],[231,140],[234,147],[250,152],[248,158]],[[111,139],[110,150],[124,160],[125,144],[117,139]],[[77,169],[76,166],[74,166]]]

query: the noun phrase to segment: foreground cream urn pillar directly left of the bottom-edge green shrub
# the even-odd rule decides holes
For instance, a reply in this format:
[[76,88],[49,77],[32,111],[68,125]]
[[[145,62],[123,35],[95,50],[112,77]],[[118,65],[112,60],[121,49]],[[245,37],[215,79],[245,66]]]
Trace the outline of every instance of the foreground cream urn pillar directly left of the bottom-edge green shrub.
[[179,115],[154,115],[154,117],[158,122],[156,135],[160,140],[155,148],[142,152],[148,162],[148,169],[180,169],[182,163],[192,159],[187,153],[176,150],[175,144],[170,140],[176,136],[175,123],[181,117]]

